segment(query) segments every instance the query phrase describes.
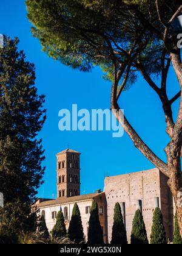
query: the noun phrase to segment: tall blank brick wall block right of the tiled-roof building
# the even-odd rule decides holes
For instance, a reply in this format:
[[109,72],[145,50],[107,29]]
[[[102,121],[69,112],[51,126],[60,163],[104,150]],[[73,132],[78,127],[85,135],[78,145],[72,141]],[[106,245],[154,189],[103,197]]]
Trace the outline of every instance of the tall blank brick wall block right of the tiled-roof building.
[[112,237],[113,208],[121,205],[127,239],[130,243],[132,221],[137,209],[141,210],[150,241],[153,211],[161,208],[167,240],[172,241],[173,199],[167,186],[167,177],[158,169],[135,172],[105,179],[104,192],[107,201],[108,239]]

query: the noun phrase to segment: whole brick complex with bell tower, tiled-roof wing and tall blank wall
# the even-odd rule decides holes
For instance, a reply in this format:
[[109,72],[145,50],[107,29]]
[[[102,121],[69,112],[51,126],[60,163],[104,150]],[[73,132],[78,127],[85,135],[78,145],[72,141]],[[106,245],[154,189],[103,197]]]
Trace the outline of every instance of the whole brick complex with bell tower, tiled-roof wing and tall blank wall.
[[[110,243],[113,226],[113,209],[116,202],[121,205],[127,239],[130,243],[132,221],[137,209],[141,210],[150,238],[155,207],[163,213],[167,240],[172,241],[173,199],[167,186],[167,177],[157,168],[114,177],[106,177],[104,192],[80,195],[80,153],[67,149],[57,157],[57,199],[38,199],[36,205],[44,215],[49,231],[56,223],[59,210],[64,213],[66,228],[69,228],[74,204],[78,204],[87,240],[90,208],[93,199],[98,202],[99,221],[103,229],[104,243]],[[150,240],[150,239],[149,239]]]

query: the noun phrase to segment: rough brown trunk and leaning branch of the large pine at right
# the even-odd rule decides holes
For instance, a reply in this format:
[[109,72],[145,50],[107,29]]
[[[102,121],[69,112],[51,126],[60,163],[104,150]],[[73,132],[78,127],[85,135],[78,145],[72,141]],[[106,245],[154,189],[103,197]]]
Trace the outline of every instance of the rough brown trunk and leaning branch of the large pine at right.
[[[177,74],[178,80],[180,82],[180,88],[182,88],[182,65],[181,58],[179,54],[170,55],[172,64]],[[166,121],[170,127],[170,143],[167,145],[165,151],[167,155],[167,164],[164,163],[160,158],[155,155],[150,148],[144,143],[140,136],[136,133],[130,123],[127,121],[124,114],[121,113],[120,116],[119,110],[120,107],[117,102],[117,88],[118,88],[118,79],[117,72],[115,67],[115,76],[112,85],[112,110],[113,114],[116,116],[120,124],[123,126],[126,133],[129,135],[135,147],[140,150],[140,152],[155,165],[161,172],[163,172],[167,177],[169,177],[169,187],[174,196],[175,205],[177,208],[178,223],[180,226],[180,233],[182,236],[182,177],[181,177],[181,144],[182,144],[182,94],[180,101],[180,108],[178,112],[178,118],[174,126],[169,126],[169,120],[167,117],[172,116],[172,113],[167,113]],[[182,91],[182,90],[181,90]],[[164,104],[166,105],[166,104]],[[164,106],[163,106],[164,107]],[[116,110],[116,111],[115,111]],[[169,109],[168,109],[169,110]],[[165,112],[165,111],[164,111]],[[124,123],[123,123],[124,120]],[[171,121],[171,119],[170,119]],[[171,123],[170,123],[171,124]]]

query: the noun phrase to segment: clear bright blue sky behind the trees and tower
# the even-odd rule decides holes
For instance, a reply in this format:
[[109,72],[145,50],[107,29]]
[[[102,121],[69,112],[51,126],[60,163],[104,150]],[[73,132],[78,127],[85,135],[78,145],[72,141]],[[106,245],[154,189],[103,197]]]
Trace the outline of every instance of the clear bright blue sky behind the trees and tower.
[[[45,94],[47,119],[39,133],[45,149],[44,185],[38,190],[38,197],[56,197],[56,153],[69,148],[81,152],[81,194],[93,193],[104,188],[104,177],[143,171],[154,166],[133,146],[124,133],[113,138],[112,132],[61,132],[58,129],[58,112],[62,108],[88,110],[110,108],[111,84],[103,80],[101,69],[92,73],[81,73],[47,57],[41,51],[41,44],[32,36],[31,24],[27,19],[24,0],[0,0],[0,34],[18,37],[19,49],[23,49],[27,60],[36,66],[36,87],[39,94]],[[160,81],[157,81],[160,85]],[[173,70],[168,82],[170,98],[178,92],[178,82]],[[177,116],[178,101],[173,105]],[[125,91],[120,107],[132,126],[150,148],[166,161],[164,148],[169,138],[161,102],[149,85],[139,77],[135,85]]]

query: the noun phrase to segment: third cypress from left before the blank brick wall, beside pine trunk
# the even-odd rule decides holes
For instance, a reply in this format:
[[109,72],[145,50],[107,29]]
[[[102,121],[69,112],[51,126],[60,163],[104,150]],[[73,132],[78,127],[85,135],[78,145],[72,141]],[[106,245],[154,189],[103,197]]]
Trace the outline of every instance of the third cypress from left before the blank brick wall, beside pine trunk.
[[150,244],[167,244],[166,232],[163,224],[163,215],[160,208],[156,208],[153,213],[152,233]]

